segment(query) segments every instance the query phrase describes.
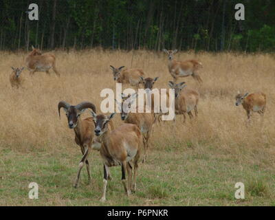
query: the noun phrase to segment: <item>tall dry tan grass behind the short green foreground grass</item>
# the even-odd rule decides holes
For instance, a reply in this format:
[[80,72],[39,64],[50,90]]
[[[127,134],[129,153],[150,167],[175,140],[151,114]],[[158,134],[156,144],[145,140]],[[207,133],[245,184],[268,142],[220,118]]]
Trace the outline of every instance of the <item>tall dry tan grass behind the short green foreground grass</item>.
[[[64,151],[74,144],[74,132],[67,127],[67,118],[58,118],[57,104],[65,100],[71,104],[82,101],[94,102],[100,107],[100,91],[115,89],[109,65],[139,67],[146,76],[159,76],[155,87],[168,88],[166,55],[149,51],[120,52],[89,50],[82,52],[54,52],[61,78],[51,72],[47,76],[36,72],[30,77],[27,70],[23,89],[12,89],[9,82],[10,67],[24,66],[26,54],[0,53],[0,146],[17,151]],[[177,60],[197,58],[203,63],[199,87],[191,78],[181,78],[188,87],[197,89],[199,117],[183,124],[177,121],[157,124],[151,142],[152,151],[162,151],[179,146],[192,147],[203,155],[204,146],[212,146],[215,154],[226,159],[274,166],[275,155],[275,89],[274,57],[268,54],[210,54],[181,52]],[[243,92],[263,91],[267,94],[267,111],[263,124],[254,114],[250,126],[242,107],[234,106],[234,96]],[[85,113],[82,117],[85,118]],[[115,125],[122,123],[118,115]]]

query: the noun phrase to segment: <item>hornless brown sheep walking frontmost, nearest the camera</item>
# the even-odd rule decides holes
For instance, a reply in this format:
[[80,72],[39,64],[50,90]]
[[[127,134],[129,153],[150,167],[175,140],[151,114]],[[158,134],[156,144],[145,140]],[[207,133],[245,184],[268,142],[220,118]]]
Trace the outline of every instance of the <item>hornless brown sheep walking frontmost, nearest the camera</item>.
[[[126,194],[131,195],[131,190],[136,190],[136,177],[138,160],[142,149],[142,134],[135,124],[122,124],[113,131],[109,130],[111,115],[96,115],[91,111],[94,118],[94,133],[100,137],[101,148],[100,155],[104,163],[103,193],[100,201],[106,200],[107,179],[109,176],[109,167],[121,166],[122,168],[122,184]],[[132,181],[132,167],[134,170]],[[128,174],[128,184],[126,184],[125,172]]]

